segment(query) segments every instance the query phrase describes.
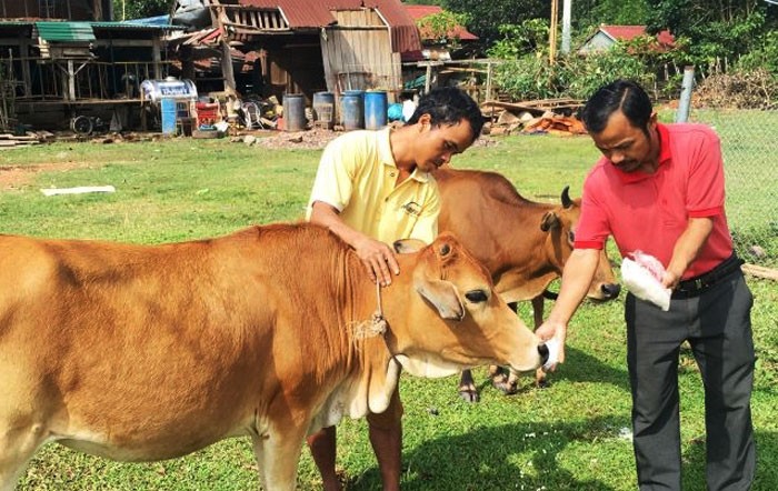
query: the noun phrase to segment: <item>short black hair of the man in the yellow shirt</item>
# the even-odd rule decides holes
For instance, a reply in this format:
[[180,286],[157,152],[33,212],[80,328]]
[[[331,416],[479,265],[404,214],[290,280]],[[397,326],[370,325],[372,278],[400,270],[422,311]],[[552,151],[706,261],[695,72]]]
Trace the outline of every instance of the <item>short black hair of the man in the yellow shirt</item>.
[[422,96],[408,124],[417,123],[422,114],[430,116],[433,127],[459,124],[466,119],[472,130],[472,141],[476,141],[483,128],[483,114],[476,101],[456,87],[440,87]]

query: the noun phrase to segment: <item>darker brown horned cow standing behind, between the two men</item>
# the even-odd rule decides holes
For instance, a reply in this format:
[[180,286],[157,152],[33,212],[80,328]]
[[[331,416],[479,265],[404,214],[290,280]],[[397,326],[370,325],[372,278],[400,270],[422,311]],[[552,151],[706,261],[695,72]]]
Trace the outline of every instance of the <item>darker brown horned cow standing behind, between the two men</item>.
[[[541,294],[559,278],[572,252],[572,239],[580,217],[580,200],[570,200],[567,188],[560,204],[529,201],[513,184],[496,172],[439,169],[435,173],[442,199],[439,228],[451,231],[492,275],[495,289],[516,308],[516,302],[532,300],[535,323],[542,322]],[[605,251],[588,297],[611,300],[618,297]],[[506,393],[516,391],[517,377],[491,369],[496,387]],[[545,373],[538,370],[538,384]],[[462,399],[475,402],[470,371],[462,372],[459,385]]]

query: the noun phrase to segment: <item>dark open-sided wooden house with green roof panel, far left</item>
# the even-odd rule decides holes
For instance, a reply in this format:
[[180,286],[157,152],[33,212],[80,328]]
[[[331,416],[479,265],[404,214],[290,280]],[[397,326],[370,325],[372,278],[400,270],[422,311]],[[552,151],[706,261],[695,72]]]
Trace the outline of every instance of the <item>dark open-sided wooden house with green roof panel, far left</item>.
[[167,76],[164,38],[180,28],[112,14],[111,0],[0,0],[0,124],[59,129],[118,111],[132,126],[139,84]]

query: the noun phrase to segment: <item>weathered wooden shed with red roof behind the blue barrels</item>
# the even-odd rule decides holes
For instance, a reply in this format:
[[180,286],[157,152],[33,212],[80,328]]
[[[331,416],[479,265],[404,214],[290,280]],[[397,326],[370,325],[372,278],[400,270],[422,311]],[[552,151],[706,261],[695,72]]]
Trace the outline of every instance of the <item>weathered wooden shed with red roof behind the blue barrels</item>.
[[[200,58],[194,51],[203,44],[211,52],[219,49],[227,91],[249,84],[265,97],[289,92],[309,99],[320,90],[399,91],[403,53],[421,49],[400,0],[206,0],[206,7],[212,34],[194,43],[202,34],[172,42],[184,61]],[[247,73],[236,72],[236,50],[256,60],[250,83],[241,80]]]

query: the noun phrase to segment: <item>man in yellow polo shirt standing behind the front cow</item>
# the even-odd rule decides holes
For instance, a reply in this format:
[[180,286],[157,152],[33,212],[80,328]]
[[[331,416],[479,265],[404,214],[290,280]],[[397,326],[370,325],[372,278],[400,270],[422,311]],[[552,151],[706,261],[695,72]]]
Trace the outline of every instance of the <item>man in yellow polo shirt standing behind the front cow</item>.
[[[440,196],[429,172],[469,148],[482,126],[481,112],[468,94],[441,88],[419,100],[402,128],[337,138],[321,157],[308,219],[351,246],[373,281],[390,284],[400,269],[389,244],[398,239],[431,242],[438,234]],[[398,390],[386,412],[368,414],[385,491],[399,490],[401,417]],[[335,427],[308,438],[326,491],[341,489],[335,442]]]

